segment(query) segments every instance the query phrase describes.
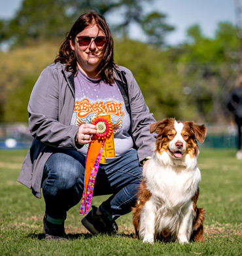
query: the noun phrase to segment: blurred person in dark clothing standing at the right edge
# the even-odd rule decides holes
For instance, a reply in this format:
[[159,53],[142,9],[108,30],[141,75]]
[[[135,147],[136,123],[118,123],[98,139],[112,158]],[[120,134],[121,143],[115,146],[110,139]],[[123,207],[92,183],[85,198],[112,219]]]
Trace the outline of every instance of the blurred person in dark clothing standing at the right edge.
[[241,127],[242,127],[242,75],[239,76],[237,87],[232,91],[228,109],[233,113],[235,123],[237,124],[237,153],[236,158],[242,159],[241,150]]

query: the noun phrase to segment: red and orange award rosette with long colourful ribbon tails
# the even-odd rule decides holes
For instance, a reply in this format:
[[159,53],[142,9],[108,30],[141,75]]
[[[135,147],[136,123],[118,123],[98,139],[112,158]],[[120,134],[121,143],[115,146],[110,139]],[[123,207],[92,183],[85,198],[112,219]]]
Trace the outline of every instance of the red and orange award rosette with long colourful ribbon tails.
[[101,158],[103,158],[102,153],[103,148],[105,148],[105,142],[111,140],[112,144],[114,144],[112,122],[109,114],[99,115],[92,119],[91,123],[92,125],[96,125],[97,134],[93,135],[92,142],[90,142],[86,154],[85,182],[80,203],[80,214],[87,214],[89,211],[92,195],[94,194],[95,178],[97,177],[99,163]]

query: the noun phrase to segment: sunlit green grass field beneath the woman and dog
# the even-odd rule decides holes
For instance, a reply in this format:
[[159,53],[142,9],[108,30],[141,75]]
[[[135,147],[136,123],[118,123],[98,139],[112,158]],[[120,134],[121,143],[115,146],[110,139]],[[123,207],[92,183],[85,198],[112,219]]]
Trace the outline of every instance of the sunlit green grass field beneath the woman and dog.
[[[0,255],[242,255],[242,160],[235,150],[202,148],[198,207],[205,207],[205,242],[143,244],[129,213],[117,220],[122,238],[91,236],[79,206],[67,213],[68,241],[45,241],[44,200],[18,183],[26,150],[0,151]],[[93,198],[99,205],[105,197]]]

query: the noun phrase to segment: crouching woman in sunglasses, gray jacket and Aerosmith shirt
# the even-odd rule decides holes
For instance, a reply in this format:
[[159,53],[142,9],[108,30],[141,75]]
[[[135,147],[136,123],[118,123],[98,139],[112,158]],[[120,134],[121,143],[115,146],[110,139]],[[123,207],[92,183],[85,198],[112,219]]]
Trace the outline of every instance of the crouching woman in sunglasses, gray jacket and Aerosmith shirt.
[[82,224],[92,234],[116,234],[114,220],[131,211],[152,154],[148,129],[155,120],[130,70],[114,63],[103,16],[78,18],[33,87],[28,112],[34,139],[18,181],[37,198],[43,189],[46,240],[65,238],[67,211],[82,198],[88,145],[98,133],[91,122],[100,112],[110,115],[115,156],[99,164],[94,196],[111,197],[93,206]]

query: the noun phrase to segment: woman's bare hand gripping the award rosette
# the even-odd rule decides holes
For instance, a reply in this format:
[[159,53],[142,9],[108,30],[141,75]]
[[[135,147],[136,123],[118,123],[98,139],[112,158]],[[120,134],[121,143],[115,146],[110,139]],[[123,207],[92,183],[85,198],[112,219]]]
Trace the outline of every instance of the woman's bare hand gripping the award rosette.
[[76,143],[80,145],[88,144],[92,141],[92,135],[95,134],[97,134],[97,127],[95,125],[90,123],[80,125],[76,135]]

